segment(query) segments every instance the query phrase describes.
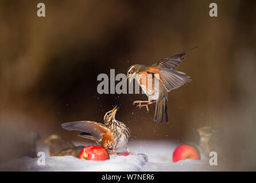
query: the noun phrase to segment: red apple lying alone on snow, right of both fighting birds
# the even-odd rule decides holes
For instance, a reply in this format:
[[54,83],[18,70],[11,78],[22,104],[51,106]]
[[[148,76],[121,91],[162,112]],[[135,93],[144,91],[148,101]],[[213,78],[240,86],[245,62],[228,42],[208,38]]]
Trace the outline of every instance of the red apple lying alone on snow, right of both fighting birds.
[[172,161],[177,162],[191,158],[192,160],[200,160],[199,151],[192,145],[180,145],[174,150],[172,154]]

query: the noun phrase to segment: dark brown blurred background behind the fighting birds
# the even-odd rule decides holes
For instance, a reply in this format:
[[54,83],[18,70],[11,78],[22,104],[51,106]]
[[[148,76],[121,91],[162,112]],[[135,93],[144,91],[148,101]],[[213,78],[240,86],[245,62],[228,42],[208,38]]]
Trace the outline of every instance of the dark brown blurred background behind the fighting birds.
[[[46,17],[37,17],[37,3]],[[194,128],[215,126],[239,170],[256,170],[256,1],[0,1],[2,154],[32,130],[84,140],[60,124],[117,120],[133,140],[197,142]],[[98,74],[126,73],[192,47],[177,70],[192,82],[169,93],[169,124],[138,94],[98,94]],[[8,149],[8,150],[7,150]],[[3,153],[7,151],[6,153]]]

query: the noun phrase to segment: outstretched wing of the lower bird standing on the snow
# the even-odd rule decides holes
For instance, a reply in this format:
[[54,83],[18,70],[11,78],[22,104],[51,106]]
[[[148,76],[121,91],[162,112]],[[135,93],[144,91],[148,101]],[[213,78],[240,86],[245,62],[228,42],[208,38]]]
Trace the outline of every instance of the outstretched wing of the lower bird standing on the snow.
[[95,121],[67,122],[65,124],[61,124],[61,126],[62,128],[69,131],[77,130],[77,131],[83,132],[80,134],[81,137],[88,138],[89,136],[92,136],[95,138],[95,140],[99,142],[102,140],[102,137],[104,136],[105,133],[110,133],[110,129],[108,129],[105,125]]

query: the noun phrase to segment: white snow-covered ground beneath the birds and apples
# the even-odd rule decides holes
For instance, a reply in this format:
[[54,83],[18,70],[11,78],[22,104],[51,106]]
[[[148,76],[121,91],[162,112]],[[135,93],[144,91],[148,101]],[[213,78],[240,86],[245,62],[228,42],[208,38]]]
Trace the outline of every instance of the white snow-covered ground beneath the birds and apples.
[[[77,142],[75,145],[91,145]],[[83,161],[72,156],[49,157],[48,147],[38,146],[38,151],[45,152],[45,165],[37,165],[38,158],[22,157],[17,160],[0,164],[0,170],[12,169],[16,171],[214,171],[217,166],[210,166],[208,160],[201,153],[201,160],[183,160],[172,162],[172,153],[180,144],[170,141],[131,141],[129,148],[134,153],[143,156],[111,155],[107,161]],[[198,147],[197,147],[198,148]],[[199,149],[199,148],[198,148]],[[200,150],[200,149],[199,149]],[[122,152],[123,150],[119,150]]]

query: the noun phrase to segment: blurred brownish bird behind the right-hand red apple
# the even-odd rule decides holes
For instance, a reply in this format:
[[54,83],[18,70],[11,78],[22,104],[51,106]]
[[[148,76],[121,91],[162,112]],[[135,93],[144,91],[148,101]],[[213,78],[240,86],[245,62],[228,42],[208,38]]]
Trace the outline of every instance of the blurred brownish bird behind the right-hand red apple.
[[200,136],[200,148],[205,156],[208,157],[211,151],[216,151],[215,141],[210,141],[210,139],[212,138],[212,135],[217,132],[217,130],[215,128],[212,128],[211,126],[204,126],[197,129],[196,131],[199,133]]

